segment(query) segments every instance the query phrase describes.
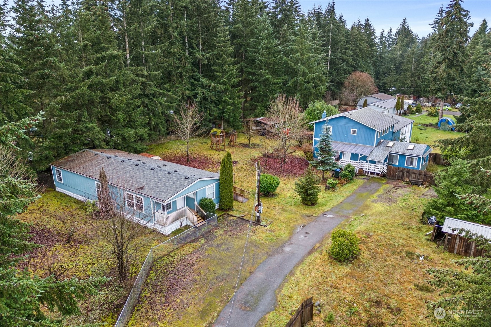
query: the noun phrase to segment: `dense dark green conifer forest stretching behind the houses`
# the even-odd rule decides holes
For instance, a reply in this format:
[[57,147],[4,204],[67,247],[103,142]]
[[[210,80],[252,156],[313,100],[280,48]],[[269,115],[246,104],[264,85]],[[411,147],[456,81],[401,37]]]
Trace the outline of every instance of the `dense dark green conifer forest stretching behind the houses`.
[[333,2],[304,13],[297,0],[5,1],[0,121],[45,112],[29,145],[44,169],[83,148],[141,152],[187,100],[207,127],[238,128],[278,93],[304,108],[337,99],[354,71],[381,92],[477,97],[489,90],[490,28],[470,37],[460,0],[435,9],[418,36],[406,19],[378,35],[369,18],[349,25]]

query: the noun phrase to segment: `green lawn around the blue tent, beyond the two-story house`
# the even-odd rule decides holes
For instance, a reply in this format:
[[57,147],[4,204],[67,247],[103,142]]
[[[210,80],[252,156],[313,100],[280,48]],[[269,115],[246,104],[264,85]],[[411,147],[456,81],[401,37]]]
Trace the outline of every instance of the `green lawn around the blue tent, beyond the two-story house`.
[[[443,117],[449,117],[455,121],[455,116],[444,114]],[[429,124],[429,123],[433,123],[433,125],[437,126],[438,117],[429,117],[426,114],[423,114],[417,117],[409,116],[409,118],[414,120],[414,124],[412,126],[411,142],[428,144],[433,148],[433,152],[436,153],[440,153],[440,149],[437,148],[435,144],[436,140],[442,138],[454,138],[454,137],[465,135],[465,133],[442,131],[434,127],[427,127],[426,130],[420,130],[418,128],[418,125]]]

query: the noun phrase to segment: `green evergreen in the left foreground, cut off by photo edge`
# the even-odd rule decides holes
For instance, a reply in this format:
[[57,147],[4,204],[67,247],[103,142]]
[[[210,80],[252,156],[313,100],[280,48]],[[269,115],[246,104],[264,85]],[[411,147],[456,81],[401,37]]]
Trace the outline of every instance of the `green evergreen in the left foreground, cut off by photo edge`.
[[[29,224],[15,216],[39,198],[34,172],[19,158],[22,152],[12,140],[26,138],[25,126],[36,125],[40,115],[0,126],[0,303],[2,326],[62,326],[62,320],[50,319],[44,309],[62,316],[80,313],[77,300],[95,295],[108,279],[77,277],[61,280],[55,273],[45,278],[19,270],[16,264],[24,254],[40,245],[28,242]],[[43,307],[43,310],[41,309]]]

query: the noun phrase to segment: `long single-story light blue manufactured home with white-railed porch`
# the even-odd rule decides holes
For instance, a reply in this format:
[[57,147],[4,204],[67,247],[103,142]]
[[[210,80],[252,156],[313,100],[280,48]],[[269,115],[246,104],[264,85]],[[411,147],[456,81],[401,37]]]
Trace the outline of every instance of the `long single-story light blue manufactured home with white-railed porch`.
[[[56,191],[97,201],[104,168],[114,200],[128,218],[169,234],[182,225],[198,225],[207,213],[198,202],[218,206],[219,174],[119,151],[82,150],[51,164]],[[118,195],[121,194],[121,195]]]

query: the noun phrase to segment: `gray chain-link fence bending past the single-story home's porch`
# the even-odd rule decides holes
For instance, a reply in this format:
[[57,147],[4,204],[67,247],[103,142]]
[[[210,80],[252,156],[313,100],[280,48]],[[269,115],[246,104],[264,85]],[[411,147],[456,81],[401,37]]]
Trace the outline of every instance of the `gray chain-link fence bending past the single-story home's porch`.
[[178,234],[173,238],[168,239],[164,243],[156,245],[150,249],[145,262],[143,262],[143,265],[141,266],[138,276],[136,276],[135,284],[133,284],[130,295],[126,300],[126,303],[124,304],[114,327],[126,327],[128,325],[128,322],[133,314],[133,310],[135,309],[136,302],[138,301],[143,288],[143,284],[147,279],[154,260],[162,258],[177,247],[191,242],[192,240],[218,226],[218,218],[216,214],[207,213],[207,217],[209,218],[206,219],[200,226],[193,226],[181,234]]

